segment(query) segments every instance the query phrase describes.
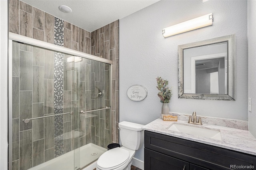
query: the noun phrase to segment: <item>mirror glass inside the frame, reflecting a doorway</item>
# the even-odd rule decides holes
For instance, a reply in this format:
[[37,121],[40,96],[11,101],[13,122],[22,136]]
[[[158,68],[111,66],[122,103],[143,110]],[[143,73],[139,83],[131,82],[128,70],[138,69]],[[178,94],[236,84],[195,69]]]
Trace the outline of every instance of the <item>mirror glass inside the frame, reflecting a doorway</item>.
[[184,93],[228,94],[228,43],[183,50]]

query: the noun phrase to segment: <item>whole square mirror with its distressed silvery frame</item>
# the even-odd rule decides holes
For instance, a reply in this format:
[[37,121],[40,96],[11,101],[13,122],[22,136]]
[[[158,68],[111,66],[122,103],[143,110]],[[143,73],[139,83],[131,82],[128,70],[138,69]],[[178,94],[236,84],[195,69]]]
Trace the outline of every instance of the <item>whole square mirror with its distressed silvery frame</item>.
[[235,35],[178,45],[178,97],[236,99]]

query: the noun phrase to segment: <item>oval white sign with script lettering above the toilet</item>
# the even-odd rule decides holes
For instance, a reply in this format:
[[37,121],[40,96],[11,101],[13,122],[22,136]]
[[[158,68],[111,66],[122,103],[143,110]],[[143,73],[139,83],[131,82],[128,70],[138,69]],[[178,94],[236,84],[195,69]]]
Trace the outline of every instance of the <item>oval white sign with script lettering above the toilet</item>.
[[142,101],[148,95],[148,91],[141,85],[132,85],[127,90],[127,96],[132,101]]

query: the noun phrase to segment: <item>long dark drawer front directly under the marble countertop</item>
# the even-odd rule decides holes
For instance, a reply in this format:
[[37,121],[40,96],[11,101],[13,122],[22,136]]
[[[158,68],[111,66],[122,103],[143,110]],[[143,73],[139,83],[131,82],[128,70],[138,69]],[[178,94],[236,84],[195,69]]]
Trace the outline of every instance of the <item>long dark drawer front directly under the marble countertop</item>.
[[145,148],[209,169],[230,169],[230,165],[254,165],[256,156],[145,131]]

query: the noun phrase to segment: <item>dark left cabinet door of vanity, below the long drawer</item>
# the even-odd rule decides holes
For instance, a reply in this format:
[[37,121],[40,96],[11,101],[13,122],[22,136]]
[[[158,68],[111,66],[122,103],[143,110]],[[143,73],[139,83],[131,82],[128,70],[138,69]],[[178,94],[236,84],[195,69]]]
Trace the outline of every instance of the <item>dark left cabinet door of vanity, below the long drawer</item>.
[[189,163],[183,160],[144,148],[145,170],[189,170]]

